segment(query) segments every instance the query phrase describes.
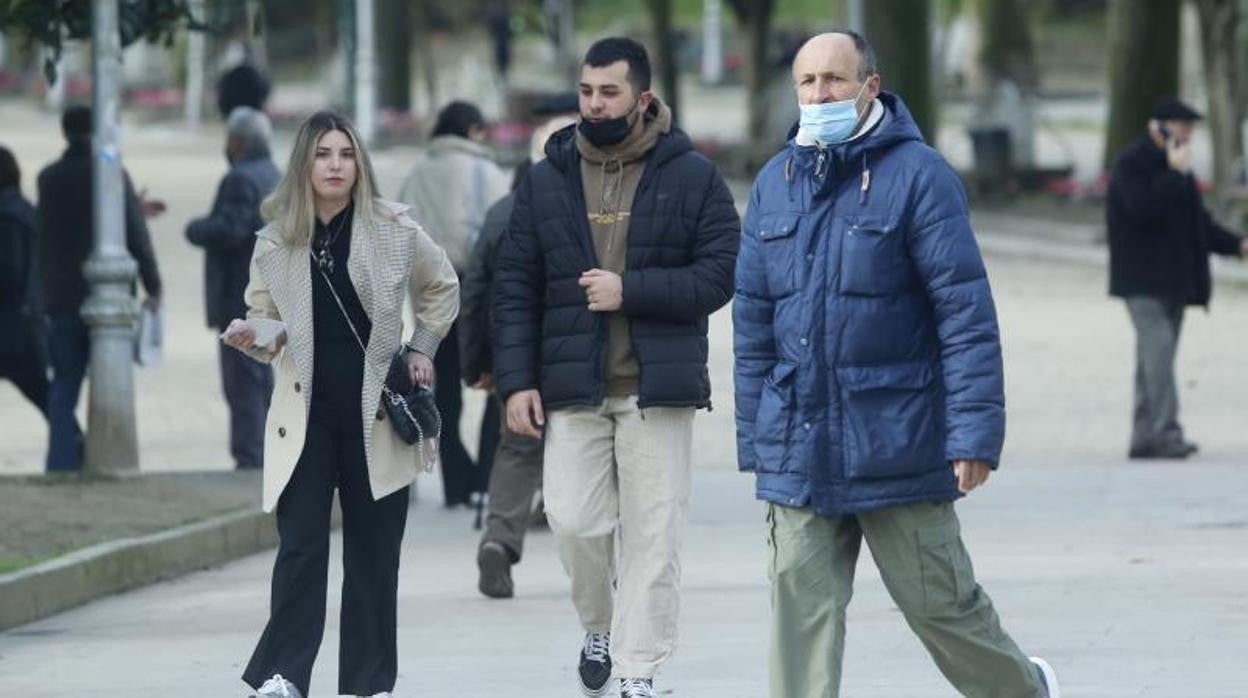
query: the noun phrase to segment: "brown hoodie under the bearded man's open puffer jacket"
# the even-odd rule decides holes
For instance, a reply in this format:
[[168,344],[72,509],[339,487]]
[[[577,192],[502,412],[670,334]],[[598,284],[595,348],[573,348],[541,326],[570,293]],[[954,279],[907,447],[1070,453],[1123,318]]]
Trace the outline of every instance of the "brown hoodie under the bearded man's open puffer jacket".
[[[646,159],[659,142],[659,136],[670,130],[671,109],[655,97],[633,126],[633,131],[618,145],[597,147],[577,131],[580,180],[599,268],[624,273],[633,197],[641,181]],[[612,312],[607,321],[607,395],[636,395],[639,371],[636,357],[633,356],[628,317]]]

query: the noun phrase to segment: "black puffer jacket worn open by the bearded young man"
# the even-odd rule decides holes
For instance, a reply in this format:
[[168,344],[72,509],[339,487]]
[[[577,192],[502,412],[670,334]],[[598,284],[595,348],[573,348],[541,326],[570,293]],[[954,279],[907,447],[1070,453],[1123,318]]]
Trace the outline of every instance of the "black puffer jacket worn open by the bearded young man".
[[[539,388],[549,408],[600,405],[607,317],[578,285],[598,266],[575,126],[547,142],[515,196],[494,283],[494,376],[503,400]],[[639,407],[710,407],[706,317],[733,296],[740,219],[715,166],[673,130],[649,154],[629,217],[624,305]]]

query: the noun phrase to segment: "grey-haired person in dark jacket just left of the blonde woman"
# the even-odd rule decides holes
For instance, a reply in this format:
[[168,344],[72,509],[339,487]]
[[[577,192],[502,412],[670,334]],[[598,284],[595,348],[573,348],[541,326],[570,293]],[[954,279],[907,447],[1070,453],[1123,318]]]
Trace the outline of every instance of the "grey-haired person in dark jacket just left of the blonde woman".
[[[272,126],[263,112],[240,106],[226,127],[230,172],[217,187],[212,211],[186,226],[186,238],[203,247],[203,301],[208,327],[225,332],[230,321],[246,315],[243,290],[251,273],[256,231],[265,227],[263,201],[281,175],[268,152]],[[230,406],[230,455],[238,469],[265,463],[265,418],[273,392],[273,368],[252,361],[223,343],[217,345],[221,387]]]

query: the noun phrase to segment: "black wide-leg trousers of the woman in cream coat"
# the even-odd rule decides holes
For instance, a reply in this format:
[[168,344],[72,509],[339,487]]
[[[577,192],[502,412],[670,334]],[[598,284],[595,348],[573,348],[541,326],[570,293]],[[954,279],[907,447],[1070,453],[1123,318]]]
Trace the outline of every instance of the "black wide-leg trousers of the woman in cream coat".
[[342,613],[338,693],[393,691],[398,673],[396,599],[408,491],[374,501],[361,426],[308,421],[295,474],[277,504],[281,543],[273,566],[268,624],[243,673],[258,688],[273,674],[308,694],[324,632],[329,512],[342,507]]

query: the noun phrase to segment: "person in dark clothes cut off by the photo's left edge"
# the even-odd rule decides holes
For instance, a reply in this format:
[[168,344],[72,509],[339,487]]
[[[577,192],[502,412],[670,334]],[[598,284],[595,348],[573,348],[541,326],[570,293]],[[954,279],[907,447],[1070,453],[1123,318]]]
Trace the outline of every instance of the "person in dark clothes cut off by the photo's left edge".
[[0,146],[0,378],[47,417],[47,351],[39,303],[35,207],[21,195],[21,169]]

